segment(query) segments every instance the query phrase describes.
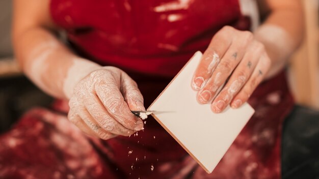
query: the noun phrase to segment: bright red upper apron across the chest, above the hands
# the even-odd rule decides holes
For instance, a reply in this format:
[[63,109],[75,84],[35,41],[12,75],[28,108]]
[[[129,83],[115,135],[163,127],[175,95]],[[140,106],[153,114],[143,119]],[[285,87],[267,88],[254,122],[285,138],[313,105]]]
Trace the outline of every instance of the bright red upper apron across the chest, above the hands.
[[69,40],[101,65],[174,77],[224,25],[249,29],[238,0],[53,0]]

